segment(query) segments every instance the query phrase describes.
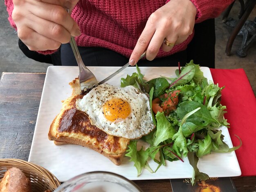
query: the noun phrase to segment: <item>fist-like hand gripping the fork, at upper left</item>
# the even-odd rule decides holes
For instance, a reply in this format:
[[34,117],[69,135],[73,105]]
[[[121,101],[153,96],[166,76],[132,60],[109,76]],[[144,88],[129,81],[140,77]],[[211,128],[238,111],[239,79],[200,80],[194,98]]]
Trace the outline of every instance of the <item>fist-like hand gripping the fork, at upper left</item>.
[[18,37],[31,51],[58,49],[81,34],[67,13],[78,0],[13,0],[12,18]]

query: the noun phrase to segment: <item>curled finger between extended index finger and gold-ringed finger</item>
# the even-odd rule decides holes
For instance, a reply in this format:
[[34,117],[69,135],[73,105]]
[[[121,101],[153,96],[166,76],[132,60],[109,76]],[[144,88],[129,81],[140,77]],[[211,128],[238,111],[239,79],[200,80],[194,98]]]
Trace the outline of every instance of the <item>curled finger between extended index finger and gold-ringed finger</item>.
[[155,31],[147,48],[147,52],[146,52],[147,60],[153,60],[157,56],[157,53],[159,52],[159,49],[162,46],[164,37],[165,37],[165,34],[162,31],[160,30]]

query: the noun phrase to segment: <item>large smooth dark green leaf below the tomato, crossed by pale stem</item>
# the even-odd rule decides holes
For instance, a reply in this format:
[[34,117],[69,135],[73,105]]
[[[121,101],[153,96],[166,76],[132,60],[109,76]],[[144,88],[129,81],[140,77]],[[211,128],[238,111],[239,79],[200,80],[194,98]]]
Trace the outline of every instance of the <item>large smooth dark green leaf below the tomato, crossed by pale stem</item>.
[[210,123],[219,123],[211,116],[209,110],[205,105],[202,105],[201,103],[197,103],[195,101],[184,101],[180,103],[176,112],[180,119],[182,119],[186,114],[198,107],[200,107],[201,109],[191,115],[187,119],[187,122],[194,123],[195,125],[198,125],[200,127],[205,127]]

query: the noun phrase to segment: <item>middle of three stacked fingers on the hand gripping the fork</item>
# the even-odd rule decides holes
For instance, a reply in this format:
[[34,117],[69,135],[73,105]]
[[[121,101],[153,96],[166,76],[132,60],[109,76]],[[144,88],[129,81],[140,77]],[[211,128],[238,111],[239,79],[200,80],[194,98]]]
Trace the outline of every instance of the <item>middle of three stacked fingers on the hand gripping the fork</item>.
[[67,43],[70,41],[70,33],[62,26],[54,22],[44,20],[37,16],[31,16],[23,21],[27,27],[33,29],[40,35],[43,35],[49,39],[55,40],[61,43]]

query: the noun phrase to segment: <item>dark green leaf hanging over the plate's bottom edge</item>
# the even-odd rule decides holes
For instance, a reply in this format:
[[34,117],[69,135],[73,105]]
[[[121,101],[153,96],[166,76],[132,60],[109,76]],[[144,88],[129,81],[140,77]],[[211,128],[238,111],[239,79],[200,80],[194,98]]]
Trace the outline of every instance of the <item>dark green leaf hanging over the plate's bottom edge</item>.
[[202,173],[199,171],[198,169],[198,157],[195,155],[195,153],[193,152],[188,152],[188,158],[189,158],[189,163],[190,165],[193,167],[194,171],[193,171],[193,176],[192,176],[192,180],[191,183],[193,186],[195,186],[196,181],[199,180],[207,180],[209,179],[209,176],[205,173]]

